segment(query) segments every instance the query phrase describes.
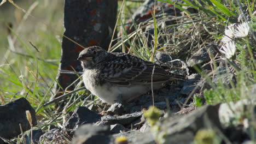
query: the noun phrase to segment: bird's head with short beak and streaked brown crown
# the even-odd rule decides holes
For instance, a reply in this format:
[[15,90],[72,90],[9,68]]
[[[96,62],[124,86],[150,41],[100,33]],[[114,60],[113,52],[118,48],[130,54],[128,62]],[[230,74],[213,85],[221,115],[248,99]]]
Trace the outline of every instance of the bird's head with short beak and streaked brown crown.
[[99,46],[91,46],[80,52],[77,60],[81,61],[85,69],[92,68],[96,63],[101,62],[107,55],[107,51]]

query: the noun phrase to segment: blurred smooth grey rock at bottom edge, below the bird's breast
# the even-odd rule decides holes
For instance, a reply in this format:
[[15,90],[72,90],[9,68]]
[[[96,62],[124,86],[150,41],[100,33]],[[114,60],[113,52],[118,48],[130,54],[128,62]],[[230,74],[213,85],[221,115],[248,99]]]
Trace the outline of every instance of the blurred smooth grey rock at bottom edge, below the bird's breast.
[[109,143],[110,137],[109,126],[94,126],[92,124],[85,124],[79,127],[75,131],[74,139],[72,143],[82,144],[82,143]]

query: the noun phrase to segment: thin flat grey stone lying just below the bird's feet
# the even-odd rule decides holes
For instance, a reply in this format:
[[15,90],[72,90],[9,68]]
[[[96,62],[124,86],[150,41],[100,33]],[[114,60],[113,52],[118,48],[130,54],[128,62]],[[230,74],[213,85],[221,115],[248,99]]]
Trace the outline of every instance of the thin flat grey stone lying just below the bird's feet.
[[137,118],[140,118],[142,116],[143,112],[135,112],[131,114],[126,114],[123,116],[103,116],[101,117],[101,121],[98,122],[96,125],[112,125],[112,124],[121,124],[121,125],[127,125],[131,124],[133,121],[135,121]]

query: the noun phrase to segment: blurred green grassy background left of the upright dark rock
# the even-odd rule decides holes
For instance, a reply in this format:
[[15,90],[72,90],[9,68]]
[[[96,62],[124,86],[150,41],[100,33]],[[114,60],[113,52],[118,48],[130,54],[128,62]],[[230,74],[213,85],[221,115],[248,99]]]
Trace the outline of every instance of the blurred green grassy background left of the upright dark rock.
[[44,85],[53,82],[63,34],[63,0],[14,3],[16,7],[8,1],[0,7],[0,92],[8,89],[10,95],[36,81]]

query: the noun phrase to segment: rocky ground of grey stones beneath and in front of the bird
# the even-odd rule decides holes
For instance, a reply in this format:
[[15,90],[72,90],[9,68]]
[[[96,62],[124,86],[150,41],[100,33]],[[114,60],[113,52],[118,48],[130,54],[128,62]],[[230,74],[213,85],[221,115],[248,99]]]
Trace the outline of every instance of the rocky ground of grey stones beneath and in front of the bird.
[[[203,59],[195,58],[196,55],[203,56],[203,53],[205,53],[203,49],[199,50],[187,63],[193,65],[193,62],[206,61],[207,56]],[[157,53],[156,57],[159,61],[168,61],[170,55],[161,52]],[[180,66],[182,67],[182,64]],[[179,73],[187,74],[186,68]],[[224,73],[223,77],[226,75]],[[154,92],[154,106],[160,110],[152,111],[150,114],[160,113],[160,119],[154,125],[150,124],[150,119],[146,120],[144,115],[144,112],[153,105],[152,93],[148,93],[126,105],[108,105],[98,101],[88,107],[77,107],[67,118],[63,128],[51,125],[48,131],[33,130],[33,141],[34,143],[71,143],[71,141],[72,143],[191,143],[195,136],[200,137],[200,130],[205,130],[201,134],[202,139],[215,139],[214,137],[218,136],[223,143],[248,141],[246,125],[225,127],[224,123],[235,117],[232,110],[241,106],[254,107],[255,101],[205,105],[197,108],[188,98],[191,92],[200,93],[203,88],[207,88],[207,82],[203,81],[199,74],[190,74],[184,81],[169,83]],[[255,93],[256,85],[251,93],[253,97],[256,97]],[[36,125],[35,112],[25,98],[0,106],[2,117],[0,135],[3,140],[19,135],[19,124],[23,131],[30,129],[30,123],[25,115],[27,110],[31,113],[33,125]],[[211,134],[211,130],[219,132]],[[125,139],[120,140],[121,136],[125,136]],[[26,137],[26,143],[29,143],[30,135]]]

